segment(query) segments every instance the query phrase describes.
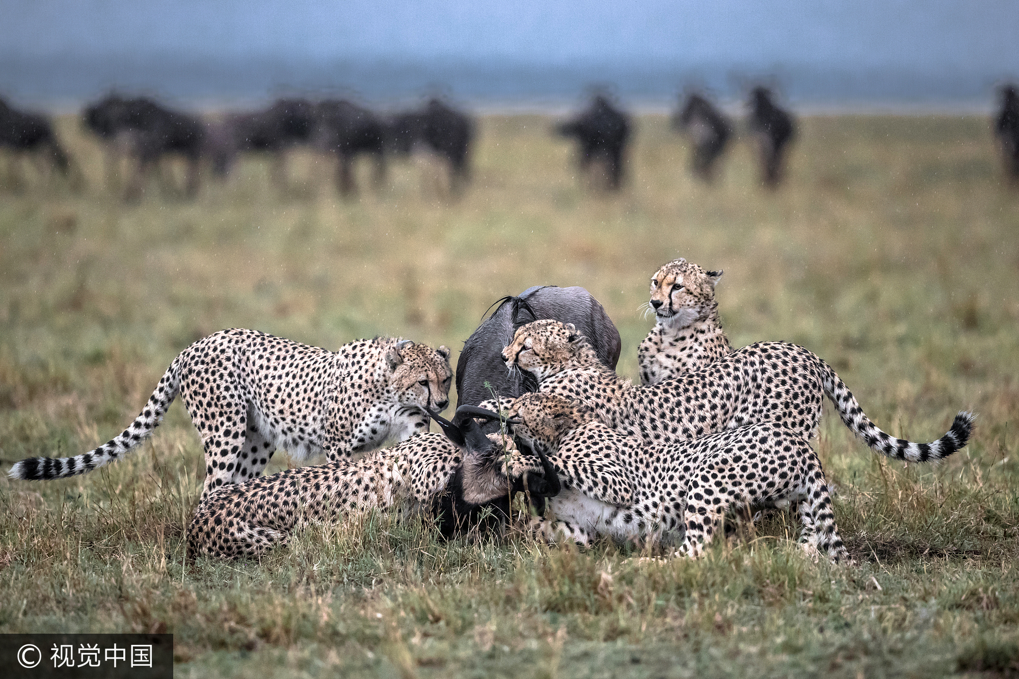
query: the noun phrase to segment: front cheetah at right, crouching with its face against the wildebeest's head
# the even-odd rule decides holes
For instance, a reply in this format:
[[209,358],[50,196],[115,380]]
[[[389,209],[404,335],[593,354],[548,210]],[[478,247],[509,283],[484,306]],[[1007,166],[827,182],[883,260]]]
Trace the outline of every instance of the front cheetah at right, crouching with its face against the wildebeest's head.
[[508,415],[514,435],[544,450],[559,476],[555,521],[532,519],[548,541],[682,539],[680,554],[696,557],[729,510],[777,507],[799,517],[809,551],[846,557],[820,461],[806,439],[776,422],[648,447],[556,395],[524,395]]

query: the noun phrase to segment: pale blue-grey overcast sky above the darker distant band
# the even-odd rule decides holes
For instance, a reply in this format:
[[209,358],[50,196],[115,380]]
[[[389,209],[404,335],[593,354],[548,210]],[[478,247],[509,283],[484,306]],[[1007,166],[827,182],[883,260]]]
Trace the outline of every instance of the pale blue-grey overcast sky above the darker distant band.
[[931,82],[1019,74],[1016,0],[0,0],[0,59],[18,64],[261,58],[867,77],[893,69]]

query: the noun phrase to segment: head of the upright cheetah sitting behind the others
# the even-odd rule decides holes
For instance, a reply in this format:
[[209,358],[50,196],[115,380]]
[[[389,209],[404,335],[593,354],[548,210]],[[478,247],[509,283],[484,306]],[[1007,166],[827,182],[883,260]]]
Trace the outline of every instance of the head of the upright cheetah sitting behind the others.
[[680,258],[654,272],[648,310],[669,327],[686,327],[701,320],[714,303],[714,286],[722,272],[705,271]]

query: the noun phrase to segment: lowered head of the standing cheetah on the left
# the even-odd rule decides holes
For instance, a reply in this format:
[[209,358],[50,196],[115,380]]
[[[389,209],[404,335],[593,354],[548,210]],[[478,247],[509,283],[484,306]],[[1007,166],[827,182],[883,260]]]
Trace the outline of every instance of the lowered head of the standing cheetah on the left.
[[446,409],[452,382],[448,349],[397,343],[386,359],[392,370],[389,383],[400,404],[420,410],[431,408],[437,413]]

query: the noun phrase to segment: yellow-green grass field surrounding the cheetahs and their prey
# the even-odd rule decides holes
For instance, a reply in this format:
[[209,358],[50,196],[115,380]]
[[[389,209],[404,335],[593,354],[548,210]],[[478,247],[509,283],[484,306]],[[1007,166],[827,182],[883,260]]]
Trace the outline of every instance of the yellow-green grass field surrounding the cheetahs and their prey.
[[934,468],[878,458],[828,409],[815,448],[855,565],[813,563],[782,517],[648,565],[607,543],[443,543],[386,516],[310,529],[262,563],[189,564],[202,449],[174,405],[116,465],[0,479],[0,632],[169,631],[178,677],[1019,672],[1019,194],[987,121],[806,118],[769,194],[747,144],[705,188],[666,120],[642,117],[609,198],[574,176],[550,122],[485,117],[455,202],[418,163],[343,202],[309,156],[285,192],[251,160],[195,202],[154,185],[125,205],[61,120],[89,187],[28,170],[0,187],[4,469],[106,440],[178,352],[225,327],[324,347],[401,334],[455,359],[496,298],[579,284],[635,376],[647,279],[682,255],[726,270],[734,345],[804,345],[889,431],[929,440],[979,414]]

